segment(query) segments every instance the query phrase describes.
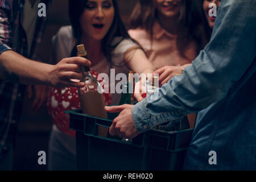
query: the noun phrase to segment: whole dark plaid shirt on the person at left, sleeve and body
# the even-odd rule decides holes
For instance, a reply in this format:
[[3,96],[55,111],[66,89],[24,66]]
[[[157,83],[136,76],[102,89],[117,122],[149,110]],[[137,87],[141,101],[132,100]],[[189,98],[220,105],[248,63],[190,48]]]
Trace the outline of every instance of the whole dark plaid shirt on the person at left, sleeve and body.
[[[22,26],[25,2],[26,0],[0,0],[0,54],[13,50],[24,57],[36,59],[46,18],[35,17],[35,34],[28,55],[27,36]],[[48,5],[49,1],[41,2]],[[25,89],[25,85],[0,80],[0,162],[14,143]]]

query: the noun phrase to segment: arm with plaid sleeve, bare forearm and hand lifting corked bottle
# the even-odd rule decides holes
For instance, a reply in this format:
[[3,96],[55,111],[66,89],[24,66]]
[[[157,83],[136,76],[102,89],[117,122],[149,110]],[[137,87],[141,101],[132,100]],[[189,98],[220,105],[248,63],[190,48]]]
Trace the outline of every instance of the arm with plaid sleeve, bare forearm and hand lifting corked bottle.
[[79,65],[90,65],[81,57],[61,60],[56,65],[39,63],[26,59],[13,51],[13,28],[11,26],[12,1],[0,4],[0,80],[22,84],[48,84],[54,86],[83,86]]

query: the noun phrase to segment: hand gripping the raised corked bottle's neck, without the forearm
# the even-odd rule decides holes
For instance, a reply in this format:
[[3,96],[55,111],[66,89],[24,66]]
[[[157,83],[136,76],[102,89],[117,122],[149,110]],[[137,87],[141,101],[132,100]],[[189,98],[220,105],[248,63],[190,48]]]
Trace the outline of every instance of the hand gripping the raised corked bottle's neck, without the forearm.
[[61,60],[49,71],[49,82],[56,87],[83,87],[84,83],[71,81],[71,79],[81,80],[80,65],[89,67],[90,61],[83,57],[69,57]]

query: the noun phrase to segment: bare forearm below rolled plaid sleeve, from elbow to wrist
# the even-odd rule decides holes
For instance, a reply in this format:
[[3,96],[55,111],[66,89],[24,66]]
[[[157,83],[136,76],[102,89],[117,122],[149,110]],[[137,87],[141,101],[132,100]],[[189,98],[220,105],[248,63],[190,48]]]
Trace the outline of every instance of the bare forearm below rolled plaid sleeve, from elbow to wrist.
[[49,84],[52,65],[26,59],[14,51],[0,55],[0,79],[22,84]]

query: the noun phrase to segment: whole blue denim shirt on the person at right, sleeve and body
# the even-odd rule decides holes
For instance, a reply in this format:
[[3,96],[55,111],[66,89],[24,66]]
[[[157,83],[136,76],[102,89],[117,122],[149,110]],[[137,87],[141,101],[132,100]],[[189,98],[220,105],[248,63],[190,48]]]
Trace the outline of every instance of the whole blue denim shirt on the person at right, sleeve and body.
[[255,7],[255,0],[221,1],[212,38],[192,65],[156,100],[133,107],[139,132],[199,111],[184,169],[256,169]]

